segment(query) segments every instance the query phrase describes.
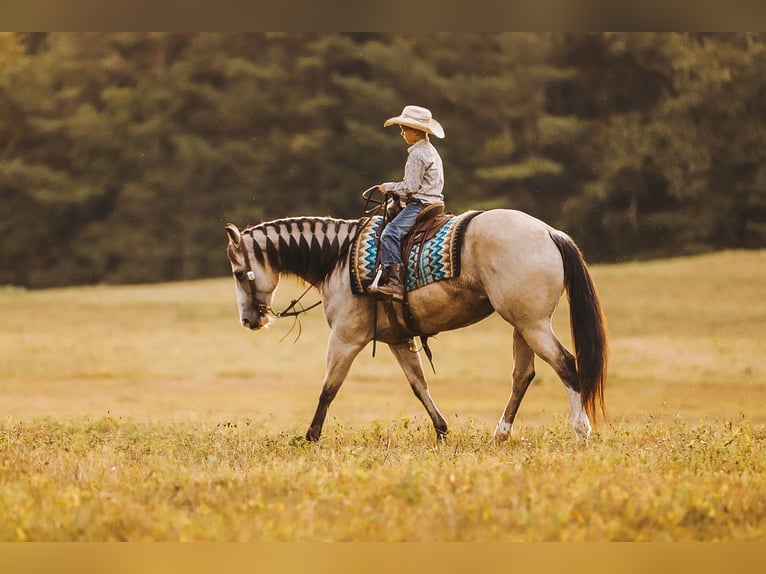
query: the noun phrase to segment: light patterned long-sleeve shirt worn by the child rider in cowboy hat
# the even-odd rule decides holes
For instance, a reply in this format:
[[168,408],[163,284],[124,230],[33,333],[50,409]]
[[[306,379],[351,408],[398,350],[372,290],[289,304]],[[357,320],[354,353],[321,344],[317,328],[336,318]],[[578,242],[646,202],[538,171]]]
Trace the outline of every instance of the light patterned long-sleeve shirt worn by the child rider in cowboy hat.
[[386,192],[405,199],[419,199],[423,203],[444,201],[444,167],[433,144],[426,139],[419,140],[407,148],[407,153],[404,179],[384,183]]

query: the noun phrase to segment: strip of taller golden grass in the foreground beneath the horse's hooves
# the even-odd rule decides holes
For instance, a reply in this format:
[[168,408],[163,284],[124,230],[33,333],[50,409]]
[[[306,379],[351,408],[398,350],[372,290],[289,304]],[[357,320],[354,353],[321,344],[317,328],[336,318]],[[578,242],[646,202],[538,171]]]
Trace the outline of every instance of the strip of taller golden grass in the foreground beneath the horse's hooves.
[[[766,434],[747,422],[610,430],[565,421],[494,446],[408,418],[319,444],[247,421],[4,425],[0,538],[760,540]],[[10,475],[10,476],[9,476]]]

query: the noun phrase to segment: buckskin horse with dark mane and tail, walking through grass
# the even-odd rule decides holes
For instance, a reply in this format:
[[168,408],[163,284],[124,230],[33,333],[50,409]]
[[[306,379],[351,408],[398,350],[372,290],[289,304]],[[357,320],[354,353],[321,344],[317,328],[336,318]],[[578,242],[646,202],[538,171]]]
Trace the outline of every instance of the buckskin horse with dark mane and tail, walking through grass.
[[[403,334],[384,302],[352,293],[350,246],[369,218],[293,217],[240,230],[225,225],[227,256],[241,324],[253,331],[273,319],[274,291],[283,274],[297,275],[321,294],[331,329],[319,401],[306,439],[319,440],[327,410],[359,352],[371,341],[387,344],[415,396],[433,422],[437,440],[447,421],[434,403],[420,350]],[[482,211],[467,225],[457,277],[407,294],[422,333],[462,328],[498,313],[513,328],[511,394],[493,438],[511,438],[513,422],[535,376],[535,356],[564,384],[576,440],[587,442],[591,420],[606,416],[605,317],[583,254],[563,231],[517,210]],[[554,334],[551,317],[567,292],[574,354]],[[400,305],[399,303],[388,303]],[[374,344],[374,343],[373,343]]]

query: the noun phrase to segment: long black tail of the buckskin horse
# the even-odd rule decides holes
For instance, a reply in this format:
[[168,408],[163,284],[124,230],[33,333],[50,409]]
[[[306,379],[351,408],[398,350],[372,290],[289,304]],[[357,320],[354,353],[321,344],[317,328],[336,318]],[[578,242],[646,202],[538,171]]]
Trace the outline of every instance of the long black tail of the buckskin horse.
[[606,321],[596,287],[579,247],[572,238],[560,231],[551,231],[550,236],[564,262],[564,285],[569,298],[569,327],[574,343],[582,406],[595,422],[597,410],[606,417],[604,384],[609,354]]

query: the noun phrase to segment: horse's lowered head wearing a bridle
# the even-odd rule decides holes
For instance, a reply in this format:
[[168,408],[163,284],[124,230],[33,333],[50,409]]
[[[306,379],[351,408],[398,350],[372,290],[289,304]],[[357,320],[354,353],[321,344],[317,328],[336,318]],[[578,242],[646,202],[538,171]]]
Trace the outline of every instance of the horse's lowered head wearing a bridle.
[[[226,224],[229,257],[234,283],[237,289],[239,320],[248,329],[266,327],[271,322],[269,312],[277,288],[279,274],[267,263],[252,234],[246,241],[236,225]],[[249,244],[249,247],[248,247]]]

